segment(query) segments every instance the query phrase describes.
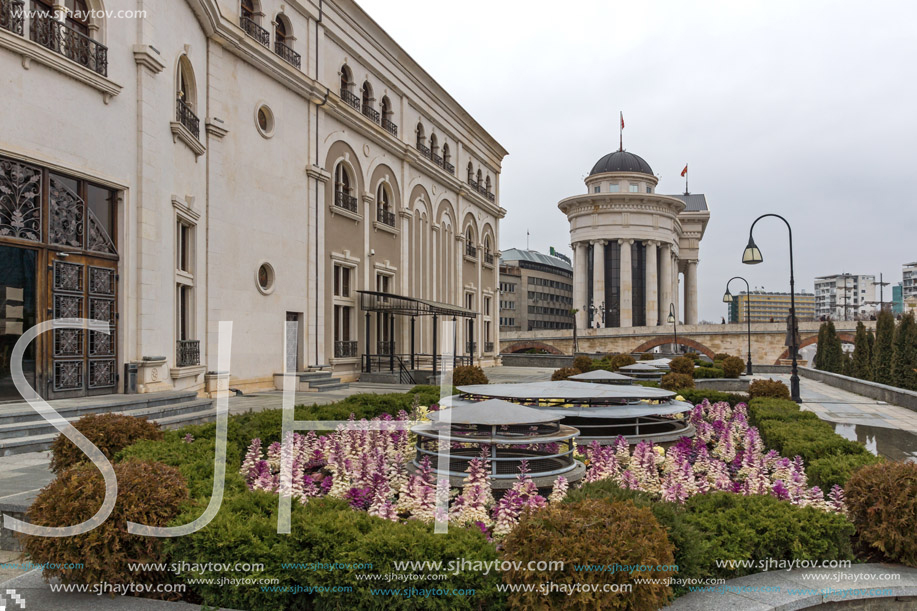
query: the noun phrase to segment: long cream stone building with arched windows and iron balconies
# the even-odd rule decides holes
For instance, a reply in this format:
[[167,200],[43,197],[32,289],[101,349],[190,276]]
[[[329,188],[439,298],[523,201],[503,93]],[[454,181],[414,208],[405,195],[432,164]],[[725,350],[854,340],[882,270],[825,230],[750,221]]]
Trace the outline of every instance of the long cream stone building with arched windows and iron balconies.
[[112,332],[33,342],[52,398],[493,357],[506,151],[352,0],[0,0],[0,101],[0,400],[55,318]]

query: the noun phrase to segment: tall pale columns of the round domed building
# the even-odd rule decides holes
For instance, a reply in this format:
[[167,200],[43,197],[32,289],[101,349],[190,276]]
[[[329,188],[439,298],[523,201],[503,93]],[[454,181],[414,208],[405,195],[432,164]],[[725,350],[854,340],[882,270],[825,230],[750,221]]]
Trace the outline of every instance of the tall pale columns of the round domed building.
[[[590,242],[577,242],[573,245],[573,306],[579,311],[576,314],[576,326],[585,329],[590,326],[612,326],[604,324],[601,308],[606,312],[616,308],[619,313],[621,327],[634,326],[634,320],[643,318],[635,315],[634,306],[634,278],[633,250],[634,244],[639,240],[619,239],[619,303],[612,304],[606,300],[609,291],[606,290],[605,248],[610,240],[592,240]],[[592,299],[590,303],[589,291],[589,245],[592,245]],[[673,245],[668,242],[653,240],[643,241],[646,247],[643,271],[643,303],[647,326],[666,324],[670,304],[675,306],[675,312],[680,321],[685,324],[697,324],[697,261],[689,259],[679,261],[675,255]],[[685,303],[683,315],[679,312],[678,272],[679,263],[683,266],[685,276]],[[593,308],[590,317],[589,308]]]

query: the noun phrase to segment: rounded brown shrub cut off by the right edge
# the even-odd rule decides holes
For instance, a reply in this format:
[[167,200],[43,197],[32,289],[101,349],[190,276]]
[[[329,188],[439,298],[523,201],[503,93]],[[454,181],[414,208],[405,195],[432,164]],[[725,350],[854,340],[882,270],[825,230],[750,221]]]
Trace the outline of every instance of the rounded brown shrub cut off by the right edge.
[[858,549],[917,566],[917,463],[863,467],[850,477],[845,491]]

